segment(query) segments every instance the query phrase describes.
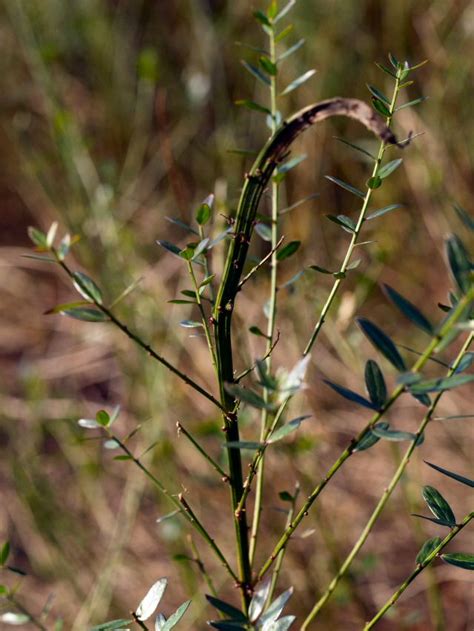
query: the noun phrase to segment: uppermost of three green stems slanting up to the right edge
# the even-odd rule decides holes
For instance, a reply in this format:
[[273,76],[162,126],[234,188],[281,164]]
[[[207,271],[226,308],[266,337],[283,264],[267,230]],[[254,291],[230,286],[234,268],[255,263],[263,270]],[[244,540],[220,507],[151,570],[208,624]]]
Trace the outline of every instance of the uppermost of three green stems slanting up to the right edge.
[[[445,339],[447,335],[449,335],[449,333],[453,329],[456,322],[463,315],[466,309],[466,306],[469,305],[473,299],[474,299],[474,288],[471,288],[470,291],[468,291],[468,293],[465,294],[461,298],[461,300],[458,302],[458,304],[456,305],[456,308],[453,309],[453,311],[451,312],[450,317],[448,317],[445,320],[444,324],[441,326],[439,330],[439,333],[433,337],[433,339],[431,340],[431,342],[428,344],[427,348],[423,352],[422,356],[413,365],[411,372],[417,373],[425,366],[431,354],[434,352],[435,348],[438,346],[439,342]],[[404,392],[404,390],[405,388],[403,385],[399,385],[394,389],[391,396],[385,403],[384,407],[381,410],[379,410],[376,414],[374,414],[371,421],[364,427],[364,429],[361,432],[359,432],[358,436],[355,437],[350,442],[350,444],[346,447],[346,449],[342,452],[342,454],[339,456],[336,462],[332,465],[332,467],[326,473],[326,476],[323,478],[323,480],[321,480],[321,482],[319,482],[319,484],[308,495],[299,513],[296,515],[295,519],[290,524],[290,526],[282,534],[280,540],[274,547],[269,558],[262,565],[262,568],[260,569],[257,575],[258,580],[260,580],[264,576],[264,574],[266,574],[269,568],[273,565],[280,550],[282,550],[286,546],[293,532],[299,526],[303,518],[308,515],[308,511],[313,505],[313,503],[315,502],[316,498],[319,496],[321,491],[326,487],[327,483],[331,480],[331,478],[337,473],[337,471],[339,471],[339,469],[342,467],[344,462],[354,453],[354,450],[357,444],[360,442],[360,440],[371,429],[371,427],[373,427],[373,425],[375,425],[375,423],[377,423],[380,420],[380,418],[387,412],[387,410],[395,403],[395,401]]]

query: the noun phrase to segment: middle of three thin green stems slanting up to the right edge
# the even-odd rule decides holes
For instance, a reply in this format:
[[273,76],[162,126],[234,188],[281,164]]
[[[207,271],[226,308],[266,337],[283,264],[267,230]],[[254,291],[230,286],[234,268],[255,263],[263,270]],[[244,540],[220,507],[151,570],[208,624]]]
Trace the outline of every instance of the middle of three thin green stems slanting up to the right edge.
[[[469,335],[469,337],[467,338],[467,340],[465,341],[465,343],[463,344],[463,347],[461,348],[461,350],[458,353],[458,356],[456,357],[455,361],[453,362],[450,370],[447,372],[447,377],[450,377],[451,375],[454,374],[456,368],[459,366],[460,361],[462,360],[462,358],[464,357],[465,353],[468,351],[470,345],[472,344],[472,340],[473,340],[474,335],[471,334]],[[349,554],[347,555],[344,563],[341,565],[339,571],[337,572],[336,576],[332,579],[332,581],[330,582],[328,588],[326,589],[326,591],[324,592],[324,594],[321,596],[321,598],[316,602],[316,604],[314,605],[313,609],[311,610],[311,612],[308,614],[308,616],[306,617],[306,619],[304,620],[302,626],[301,626],[301,631],[304,631],[305,629],[308,628],[309,624],[316,618],[316,616],[318,615],[318,613],[321,611],[321,609],[324,607],[324,605],[327,603],[327,601],[329,600],[329,598],[331,597],[331,595],[333,594],[334,590],[336,589],[336,587],[338,586],[339,582],[341,581],[341,579],[346,575],[347,571],[349,570],[349,568],[352,565],[352,562],[354,561],[355,557],[359,554],[361,548],[363,547],[363,545],[365,544],[365,542],[367,541],[370,533],[372,532],[372,529],[374,528],[378,518],[380,517],[380,515],[382,514],[382,511],[384,510],[390,496],[392,495],[393,491],[395,490],[395,488],[397,487],[400,478],[402,477],[403,473],[405,472],[405,469],[407,468],[411,456],[413,454],[413,452],[416,449],[416,446],[418,444],[418,439],[420,438],[420,436],[423,435],[423,432],[426,429],[426,426],[428,425],[428,423],[431,421],[433,414],[438,406],[438,403],[441,399],[441,397],[443,396],[444,392],[439,392],[435,398],[433,399],[430,407],[428,408],[417,432],[416,432],[416,438],[413,440],[413,442],[410,444],[410,446],[408,447],[408,449],[405,452],[405,455],[403,456],[402,460],[400,461],[400,464],[398,465],[398,469],[395,472],[394,476],[392,477],[390,483],[388,484],[388,486],[385,488],[377,506],[375,507],[372,515],[370,516],[370,519],[367,521],[367,524],[365,525],[364,530],[362,531],[362,533],[360,534],[358,540],[356,541],[356,543],[354,544],[352,550],[349,552]]]

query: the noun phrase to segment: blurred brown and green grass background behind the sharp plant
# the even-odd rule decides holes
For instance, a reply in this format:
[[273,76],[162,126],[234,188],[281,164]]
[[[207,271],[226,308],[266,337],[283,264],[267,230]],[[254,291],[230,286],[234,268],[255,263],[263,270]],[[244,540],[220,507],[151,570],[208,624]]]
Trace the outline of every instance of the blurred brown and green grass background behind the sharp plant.
[[[186,236],[165,217],[189,221],[210,192],[219,212],[235,208],[248,161],[229,150],[256,149],[267,134],[259,114],[233,105],[239,98],[266,97],[239,63],[252,59],[252,52],[238,42],[262,45],[252,18],[259,8],[257,2],[224,0],[4,0],[0,9],[1,534],[12,542],[15,565],[29,574],[25,602],[39,611],[52,596],[51,619],[64,618],[66,629],[121,616],[164,575],[171,583],[169,611],[194,596],[188,628],[205,628],[198,620],[209,615],[202,611],[205,588],[195,564],[182,560],[191,555],[183,525],[176,519],[156,523],[169,511],[166,502],[128,463],[114,462],[99,441],[86,440],[77,418],[119,403],[124,433],[141,423],[139,443],[158,441],[150,463],[159,477],[176,490],[181,484],[189,490],[216,536],[230,539],[231,525],[223,519],[222,485],[175,433],[180,420],[218,457],[214,410],[118,332],[43,316],[74,291],[55,268],[20,258],[29,247],[26,228],[46,230],[58,221],[60,231],[79,234],[74,263],[109,299],[137,281],[119,307],[122,318],[212,389],[205,345],[177,326],[188,317],[187,308],[166,302],[186,287],[179,261],[160,251],[155,240],[184,244]],[[365,422],[320,381],[326,376],[360,389],[371,350],[354,315],[370,314],[395,340],[423,346],[377,284],[394,285],[439,317],[436,303],[445,301],[449,287],[442,239],[449,231],[462,233],[451,204],[470,211],[474,193],[472,2],[300,1],[291,22],[291,42],[304,37],[306,45],[282,66],[284,82],[311,67],[318,73],[282,102],[284,115],[336,95],[369,100],[366,83],[389,91],[388,78],[374,65],[385,62],[389,51],[413,63],[429,59],[407,94],[407,100],[420,95],[429,100],[397,116],[399,137],[409,131],[423,135],[405,150],[404,166],[375,199],[378,207],[397,202],[405,207],[367,226],[367,237],[376,243],[361,251],[362,264],[346,281],[313,353],[307,394],[298,398],[297,405],[305,412],[310,408],[314,418],[269,460],[272,483],[262,537],[267,551],[284,523],[278,491],[291,490],[296,480],[310,489]],[[334,135],[368,147],[373,142],[345,121],[321,125],[299,141],[308,159],[288,178],[285,196],[288,203],[315,192],[319,198],[286,215],[284,233],[304,247],[283,266],[282,282],[303,263],[334,268],[345,251],[345,233],[324,214],[350,214],[357,205],[323,175],[362,186],[368,167]],[[264,251],[262,244],[256,247]],[[291,291],[280,292],[277,365],[291,367],[297,359],[329,282],[305,276]],[[238,312],[247,325],[263,328],[265,292],[261,275],[240,296]],[[244,328],[239,342],[242,366],[263,352]],[[472,397],[466,389],[456,391],[441,407],[447,414],[472,412]],[[398,426],[413,430],[421,414],[405,402],[392,416]],[[249,415],[247,437],[253,424]],[[423,483],[446,493],[457,515],[469,509],[462,489],[422,464],[424,458],[468,471],[468,438],[460,422],[433,423],[404,481],[406,495],[394,495],[315,629],[359,629],[410,571],[423,537],[439,534],[434,526],[415,526],[409,516]],[[312,606],[391,477],[396,450],[386,444],[376,449],[338,474],[308,519],[306,527],[314,532],[291,544],[281,583],[282,589],[295,586],[291,612]],[[466,548],[468,535],[463,542]],[[230,553],[228,542],[225,547]],[[457,549],[463,549],[461,538]],[[202,553],[219,587],[224,577]],[[173,561],[176,555],[181,560]],[[432,572],[444,627],[443,616],[433,613],[433,605],[430,609],[428,583],[421,578],[380,628],[471,628],[468,579],[450,566]],[[430,593],[436,596],[436,590]],[[222,595],[232,597],[232,590],[226,587]]]

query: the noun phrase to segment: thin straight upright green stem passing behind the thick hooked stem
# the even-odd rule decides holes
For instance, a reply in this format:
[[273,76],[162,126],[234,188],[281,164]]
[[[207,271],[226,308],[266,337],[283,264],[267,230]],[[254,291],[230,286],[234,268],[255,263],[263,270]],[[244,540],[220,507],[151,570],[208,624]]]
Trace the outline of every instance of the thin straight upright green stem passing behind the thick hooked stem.
[[[276,44],[275,44],[275,30],[273,26],[270,28],[268,32],[269,43],[270,43],[270,61],[276,66]],[[275,134],[277,129],[276,124],[276,116],[278,113],[277,109],[277,77],[270,76],[270,111],[271,111],[271,131],[272,135]],[[277,244],[278,244],[278,207],[279,207],[279,184],[272,180],[271,188],[271,221],[272,221],[272,233],[271,233],[271,261],[270,261],[270,297],[268,300],[268,321],[267,321],[267,346],[266,346],[266,355],[267,359],[265,360],[267,371],[271,372],[272,367],[272,358],[271,358],[271,348],[273,345],[273,336],[275,334],[275,324],[276,324],[276,315],[277,315],[277,281],[278,281],[278,256],[277,256]],[[271,392],[268,388],[263,388],[263,399],[268,402],[271,396]],[[268,409],[263,409],[261,418],[260,418],[260,440],[262,441],[265,437],[265,432],[268,425],[269,419],[269,411]],[[261,458],[259,459],[258,469],[257,469],[257,484],[255,488],[255,505],[253,510],[253,519],[252,519],[252,528],[250,531],[250,548],[249,548],[249,557],[250,557],[250,565],[253,566],[255,561],[255,552],[257,549],[257,537],[258,530],[260,527],[260,519],[262,516],[263,509],[263,487],[264,487],[264,472],[265,472],[265,455],[262,452]]]

